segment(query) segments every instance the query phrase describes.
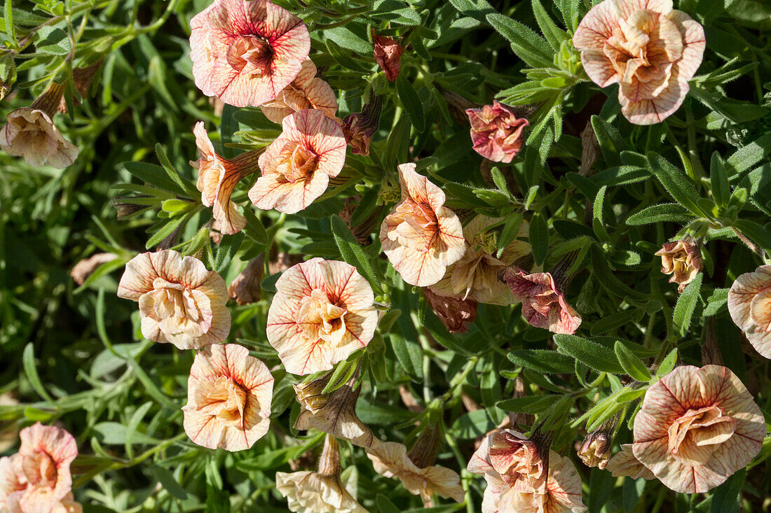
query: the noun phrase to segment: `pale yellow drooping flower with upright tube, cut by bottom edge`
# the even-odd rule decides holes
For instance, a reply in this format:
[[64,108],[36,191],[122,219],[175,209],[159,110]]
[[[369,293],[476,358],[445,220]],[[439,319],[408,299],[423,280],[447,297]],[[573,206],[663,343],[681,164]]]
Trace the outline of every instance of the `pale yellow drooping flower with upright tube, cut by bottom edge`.
[[289,511],[301,513],[366,513],[340,481],[340,451],[327,435],[318,472],[276,472],[276,490],[288,499]]

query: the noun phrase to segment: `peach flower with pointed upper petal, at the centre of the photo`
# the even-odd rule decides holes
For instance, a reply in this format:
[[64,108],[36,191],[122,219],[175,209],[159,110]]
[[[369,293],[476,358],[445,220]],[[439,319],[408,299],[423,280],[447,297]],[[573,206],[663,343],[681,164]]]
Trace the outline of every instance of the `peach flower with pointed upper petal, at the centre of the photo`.
[[419,175],[416,165],[399,164],[402,201],[380,225],[383,253],[410,285],[426,287],[439,281],[463,257],[463,226],[444,206],[442,189]]

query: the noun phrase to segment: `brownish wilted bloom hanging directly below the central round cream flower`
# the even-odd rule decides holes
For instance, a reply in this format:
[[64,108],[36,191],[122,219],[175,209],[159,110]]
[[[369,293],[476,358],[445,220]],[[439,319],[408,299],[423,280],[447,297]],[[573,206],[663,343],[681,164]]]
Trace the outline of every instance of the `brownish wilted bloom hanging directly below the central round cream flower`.
[[356,386],[359,371],[337,390],[323,393],[329,384],[332,372],[318,379],[300,384],[293,384],[300,414],[294,428],[307,431],[310,428],[345,438],[352,444],[368,448],[372,445],[372,431],[356,415],[356,400],[362,388]]

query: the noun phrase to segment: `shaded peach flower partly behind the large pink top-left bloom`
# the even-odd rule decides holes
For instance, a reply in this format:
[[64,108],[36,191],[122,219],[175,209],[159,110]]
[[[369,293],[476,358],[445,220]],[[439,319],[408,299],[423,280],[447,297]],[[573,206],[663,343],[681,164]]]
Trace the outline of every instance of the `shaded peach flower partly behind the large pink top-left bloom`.
[[316,76],[313,61],[305,59],[295,79],[281,89],[275,99],[264,102],[260,109],[274,123],[280,123],[286,116],[304,109],[318,109],[336,119],[337,98],[329,84]]

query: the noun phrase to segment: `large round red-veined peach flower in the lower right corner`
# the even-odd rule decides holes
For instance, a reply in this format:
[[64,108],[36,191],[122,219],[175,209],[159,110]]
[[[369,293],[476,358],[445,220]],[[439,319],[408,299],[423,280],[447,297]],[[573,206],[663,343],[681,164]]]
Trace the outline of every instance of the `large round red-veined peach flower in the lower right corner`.
[[652,384],[635,417],[632,452],[668,488],[703,493],[759,453],[760,408],[729,369],[675,368]]

